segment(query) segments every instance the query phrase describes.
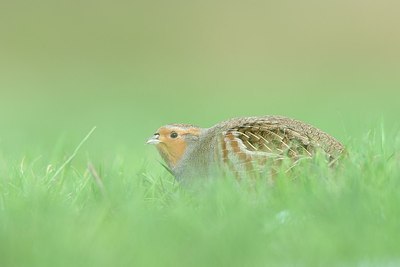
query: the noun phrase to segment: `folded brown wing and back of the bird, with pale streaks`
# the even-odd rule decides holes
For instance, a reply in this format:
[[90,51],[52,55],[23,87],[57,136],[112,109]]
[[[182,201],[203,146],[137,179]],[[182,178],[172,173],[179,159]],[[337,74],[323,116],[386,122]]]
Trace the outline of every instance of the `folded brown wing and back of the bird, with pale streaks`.
[[322,148],[330,160],[343,146],[330,135],[297,120],[285,117],[250,117],[233,119],[218,125],[224,161],[238,168],[254,169],[256,165],[291,158],[298,162],[312,157]]

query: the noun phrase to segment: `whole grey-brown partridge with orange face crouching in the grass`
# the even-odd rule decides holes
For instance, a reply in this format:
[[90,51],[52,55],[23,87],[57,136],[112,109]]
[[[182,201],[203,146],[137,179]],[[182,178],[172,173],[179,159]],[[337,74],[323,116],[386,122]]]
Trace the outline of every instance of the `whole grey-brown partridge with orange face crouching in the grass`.
[[342,143],[322,130],[284,116],[233,118],[210,128],[192,124],[160,127],[147,144],[155,145],[178,181],[210,177],[216,170],[237,177],[261,173],[271,163],[294,163],[322,151],[330,163],[344,152]]

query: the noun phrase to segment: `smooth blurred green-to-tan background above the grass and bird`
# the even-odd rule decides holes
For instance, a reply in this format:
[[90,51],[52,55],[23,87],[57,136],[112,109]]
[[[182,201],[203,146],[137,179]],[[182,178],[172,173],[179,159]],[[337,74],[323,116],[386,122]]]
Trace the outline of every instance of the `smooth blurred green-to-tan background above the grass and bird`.
[[94,125],[98,153],[141,154],[171,122],[281,114],[343,142],[382,118],[397,123],[397,1],[0,5],[3,149]]

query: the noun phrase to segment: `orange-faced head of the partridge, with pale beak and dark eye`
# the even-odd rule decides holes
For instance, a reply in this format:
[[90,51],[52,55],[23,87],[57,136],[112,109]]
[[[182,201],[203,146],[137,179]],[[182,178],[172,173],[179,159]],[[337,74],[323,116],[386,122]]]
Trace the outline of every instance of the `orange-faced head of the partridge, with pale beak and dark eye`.
[[188,146],[199,139],[201,129],[188,124],[170,124],[163,126],[147,140],[147,144],[155,145],[168,164],[173,169],[182,159]]

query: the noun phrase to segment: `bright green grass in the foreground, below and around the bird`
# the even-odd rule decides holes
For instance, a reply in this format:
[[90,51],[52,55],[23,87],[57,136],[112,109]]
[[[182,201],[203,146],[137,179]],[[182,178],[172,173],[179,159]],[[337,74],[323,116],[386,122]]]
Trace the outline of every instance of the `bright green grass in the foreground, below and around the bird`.
[[338,169],[315,159],[274,186],[183,188],[156,160],[101,162],[65,139],[50,161],[3,153],[0,265],[398,266],[399,141],[371,132]]

